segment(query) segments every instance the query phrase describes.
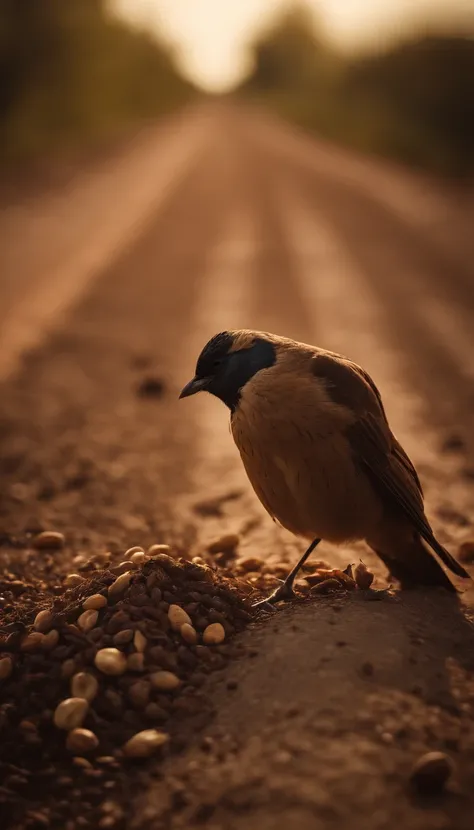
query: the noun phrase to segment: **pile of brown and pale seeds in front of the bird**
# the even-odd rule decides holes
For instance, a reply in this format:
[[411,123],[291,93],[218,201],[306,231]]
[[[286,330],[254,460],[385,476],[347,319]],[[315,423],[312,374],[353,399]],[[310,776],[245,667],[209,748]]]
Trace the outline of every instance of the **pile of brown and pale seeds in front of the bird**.
[[81,826],[119,826],[110,804],[127,764],[183,746],[209,717],[201,686],[232,654],[248,605],[208,565],[149,553],[71,574],[62,596],[0,628],[7,824],[66,826],[77,801]]

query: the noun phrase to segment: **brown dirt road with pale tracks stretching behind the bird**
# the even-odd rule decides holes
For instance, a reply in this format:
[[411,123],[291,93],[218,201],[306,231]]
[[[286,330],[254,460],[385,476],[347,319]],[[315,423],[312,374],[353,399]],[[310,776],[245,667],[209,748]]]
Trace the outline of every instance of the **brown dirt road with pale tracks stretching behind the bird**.
[[[61,187],[0,220],[11,573],[66,574],[82,552],[132,544],[199,553],[234,531],[240,557],[294,561],[301,545],[256,503],[222,405],[177,402],[209,336],[239,327],[370,371],[440,540],[456,553],[473,539],[472,196],[224,107]],[[138,394],[150,377],[162,395]],[[29,534],[51,528],[65,551],[32,556]],[[363,555],[384,584],[362,546],[321,555]],[[206,751],[197,734],[158,780],[137,779],[129,826],[472,827],[473,599],[327,601],[256,622],[247,656],[209,682]],[[419,801],[407,779],[429,749],[456,772],[448,794]]]

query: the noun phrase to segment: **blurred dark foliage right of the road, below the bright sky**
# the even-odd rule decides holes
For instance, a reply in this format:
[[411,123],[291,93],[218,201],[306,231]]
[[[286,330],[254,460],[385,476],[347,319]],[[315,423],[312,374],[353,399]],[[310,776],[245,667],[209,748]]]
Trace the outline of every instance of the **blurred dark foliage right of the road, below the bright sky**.
[[366,151],[457,177],[474,173],[474,40],[420,35],[347,58],[301,10],[253,46],[241,92]]

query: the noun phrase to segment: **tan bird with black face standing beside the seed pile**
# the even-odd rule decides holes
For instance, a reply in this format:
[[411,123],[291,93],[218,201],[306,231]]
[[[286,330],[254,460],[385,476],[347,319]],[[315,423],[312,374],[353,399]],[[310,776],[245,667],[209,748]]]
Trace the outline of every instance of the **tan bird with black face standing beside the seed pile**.
[[296,576],[322,539],[365,541],[402,588],[457,593],[433,554],[469,578],[436,539],[415,467],[358,364],[268,332],[223,331],[205,345],[179,397],[202,391],[230,410],[232,436],[264,508],[311,540],[265,604],[295,596]]

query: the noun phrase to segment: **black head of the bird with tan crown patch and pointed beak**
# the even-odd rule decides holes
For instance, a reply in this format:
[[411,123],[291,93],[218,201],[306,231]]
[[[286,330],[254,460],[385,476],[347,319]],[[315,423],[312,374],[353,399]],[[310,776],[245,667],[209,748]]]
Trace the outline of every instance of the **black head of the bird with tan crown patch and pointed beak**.
[[261,369],[273,366],[275,361],[275,346],[261,332],[223,331],[204,346],[196,374],[179,397],[210,392],[234,412],[245,384]]

